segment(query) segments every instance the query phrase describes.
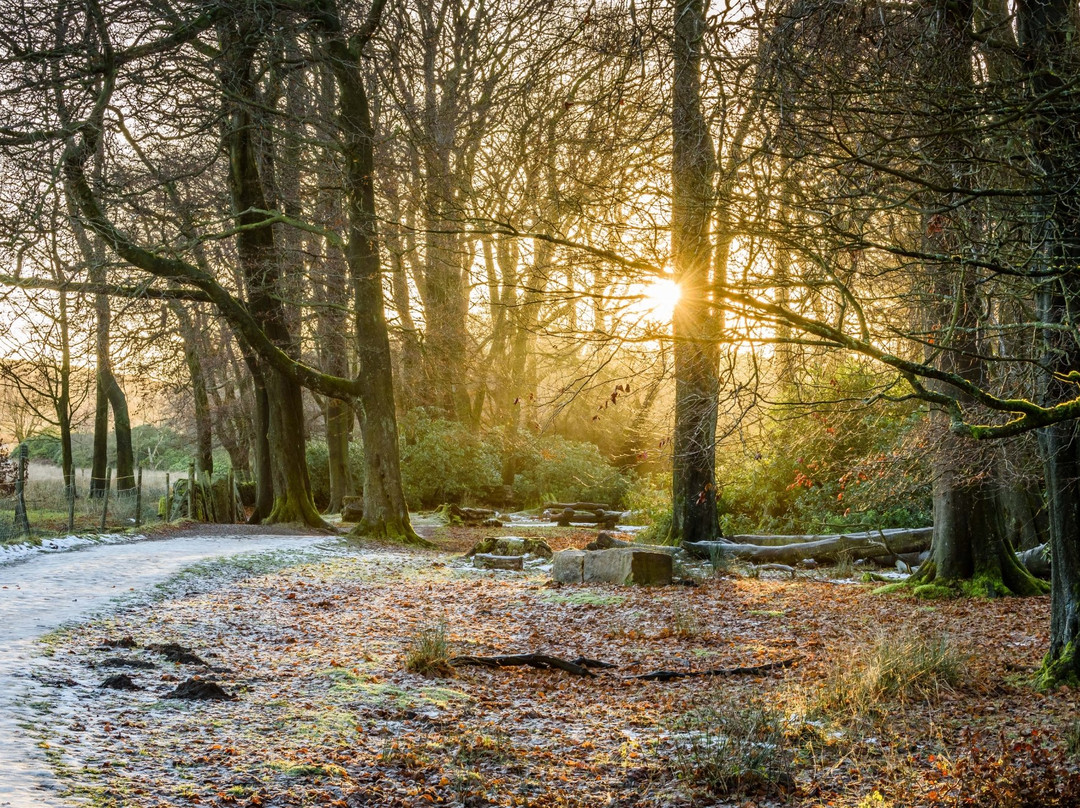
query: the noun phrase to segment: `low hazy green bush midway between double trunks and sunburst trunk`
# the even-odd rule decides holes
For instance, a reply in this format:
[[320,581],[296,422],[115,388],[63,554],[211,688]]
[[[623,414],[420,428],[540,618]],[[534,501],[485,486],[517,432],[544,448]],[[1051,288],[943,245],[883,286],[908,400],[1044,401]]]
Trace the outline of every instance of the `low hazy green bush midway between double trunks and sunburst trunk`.
[[591,443],[559,435],[538,439],[526,449],[527,462],[514,476],[514,499],[526,504],[545,500],[605,502],[622,508],[632,479],[600,455]]

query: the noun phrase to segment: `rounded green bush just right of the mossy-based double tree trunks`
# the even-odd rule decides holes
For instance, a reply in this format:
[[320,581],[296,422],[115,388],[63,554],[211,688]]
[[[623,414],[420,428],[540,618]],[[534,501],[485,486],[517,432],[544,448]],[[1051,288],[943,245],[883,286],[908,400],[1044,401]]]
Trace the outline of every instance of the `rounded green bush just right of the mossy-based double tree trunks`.
[[402,418],[402,482],[413,508],[483,502],[501,485],[498,449],[457,421],[414,409]]

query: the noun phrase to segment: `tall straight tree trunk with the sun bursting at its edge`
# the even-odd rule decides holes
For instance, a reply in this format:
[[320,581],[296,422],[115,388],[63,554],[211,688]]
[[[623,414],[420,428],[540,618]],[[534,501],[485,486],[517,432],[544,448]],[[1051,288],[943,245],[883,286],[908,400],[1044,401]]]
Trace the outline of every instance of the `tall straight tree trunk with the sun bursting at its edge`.
[[671,541],[720,535],[716,513],[718,358],[710,339],[715,313],[710,220],[713,143],[702,115],[704,0],[677,0],[672,44],[672,256],[681,296],[675,307],[675,431]]

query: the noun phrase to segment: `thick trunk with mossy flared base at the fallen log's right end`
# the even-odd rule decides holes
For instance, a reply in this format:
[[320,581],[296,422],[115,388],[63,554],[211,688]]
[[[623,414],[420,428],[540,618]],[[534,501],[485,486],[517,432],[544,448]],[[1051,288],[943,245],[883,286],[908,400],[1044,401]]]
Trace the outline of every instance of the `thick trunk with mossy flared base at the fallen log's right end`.
[[[969,167],[967,145],[958,133],[970,99],[974,96],[972,33],[974,4],[971,0],[942,1],[927,16],[930,37],[922,69],[942,94],[935,96],[934,121],[940,127],[928,133],[922,147],[932,159],[926,167],[929,183],[959,185]],[[923,214],[923,240],[928,255],[961,255],[962,244],[977,232],[976,214],[951,196],[931,192]],[[956,262],[928,262],[928,361],[939,368],[985,386],[988,381],[982,331],[984,328],[981,281],[977,271]],[[934,385],[951,392],[943,383]],[[971,404],[970,401],[964,401]],[[934,430],[933,519],[931,558],[910,583],[916,591],[940,589],[985,597],[1029,595],[1044,591],[1016,560],[1005,535],[1000,488],[994,479],[997,458],[993,450],[973,446],[951,435],[949,417],[940,408],[931,412]]]

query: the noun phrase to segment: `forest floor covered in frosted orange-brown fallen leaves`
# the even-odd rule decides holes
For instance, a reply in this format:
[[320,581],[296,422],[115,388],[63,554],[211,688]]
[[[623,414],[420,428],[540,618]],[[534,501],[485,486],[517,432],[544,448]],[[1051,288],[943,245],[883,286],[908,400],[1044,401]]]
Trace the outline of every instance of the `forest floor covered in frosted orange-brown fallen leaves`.
[[[39,745],[96,806],[1080,805],[1075,693],[1031,686],[1044,597],[921,602],[819,570],[557,587],[460,561],[494,533],[438,528],[437,551],[364,546],[53,634]],[[618,666],[406,670],[440,633],[450,655]],[[97,686],[110,657],[153,665],[124,671],[141,689]],[[193,675],[235,699],[164,698]]]

